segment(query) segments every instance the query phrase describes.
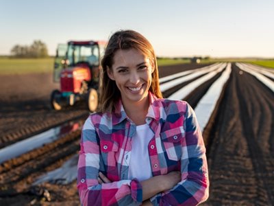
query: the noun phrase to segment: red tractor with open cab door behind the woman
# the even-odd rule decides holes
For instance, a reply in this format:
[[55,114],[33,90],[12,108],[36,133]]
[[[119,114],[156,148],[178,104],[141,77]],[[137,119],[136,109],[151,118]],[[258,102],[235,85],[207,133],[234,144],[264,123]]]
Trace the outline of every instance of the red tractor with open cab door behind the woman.
[[60,90],[51,93],[51,106],[60,110],[84,101],[90,112],[98,106],[99,60],[103,55],[103,41],[69,41],[58,45],[54,64],[54,81]]

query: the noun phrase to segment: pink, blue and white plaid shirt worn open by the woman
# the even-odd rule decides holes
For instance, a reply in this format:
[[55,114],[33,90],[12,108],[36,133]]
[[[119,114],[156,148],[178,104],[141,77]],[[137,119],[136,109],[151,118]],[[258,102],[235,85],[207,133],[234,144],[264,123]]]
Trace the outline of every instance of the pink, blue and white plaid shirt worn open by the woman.
[[[197,205],[208,198],[206,148],[195,113],[184,101],[158,99],[149,93],[146,122],[155,134],[149,142],[152,175],[181,171],[182,181],[156,194],[153,205]],[[114,113],[90,115],[82,129],[77,187],[82,205],[140,205],[142,185],[128,179],[136,125],[121,101]],[[140,168],[142,170],[142,168]],[[102,172],[112,183],[99,184]]]

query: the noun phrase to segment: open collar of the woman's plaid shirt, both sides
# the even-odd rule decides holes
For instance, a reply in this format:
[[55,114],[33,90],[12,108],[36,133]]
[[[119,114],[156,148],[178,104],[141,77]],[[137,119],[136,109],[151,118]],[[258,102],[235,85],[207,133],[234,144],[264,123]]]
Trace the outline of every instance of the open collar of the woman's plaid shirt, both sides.
[[[112,124],[119,124],[123,120],[127,119],[127,114],[123,108],[122,100],[115,104],[114,112],[112,113]],[[159,121],[160,119],[160,104],[158,98],[149,91],[149,110],[147,112],[147,118],[155,119]]]

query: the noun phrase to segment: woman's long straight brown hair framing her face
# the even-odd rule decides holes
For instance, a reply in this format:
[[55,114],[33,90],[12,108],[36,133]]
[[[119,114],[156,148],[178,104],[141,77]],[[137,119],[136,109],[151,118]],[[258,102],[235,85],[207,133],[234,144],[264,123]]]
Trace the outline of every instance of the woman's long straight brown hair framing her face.
[[160,91],[158,65],[154,49],[142,34],[133,30],[121,30],[115,32],[110,37],[108,45],[105,48],[105,54],[101,60],[101,76],[100,76],[100,102],[101,112],[114,111],[114,104],[121,98],[121,93],[116,86],[114,80],[108,77],[107,69],[112,69],[114,54],[119,49],[137,49],[144,56],[147,56],[151,60],[151,65],[154,65],[154,71],[151,74],[152,82],[149,87],[149,91],[153,93],[157,98],[162,98]]

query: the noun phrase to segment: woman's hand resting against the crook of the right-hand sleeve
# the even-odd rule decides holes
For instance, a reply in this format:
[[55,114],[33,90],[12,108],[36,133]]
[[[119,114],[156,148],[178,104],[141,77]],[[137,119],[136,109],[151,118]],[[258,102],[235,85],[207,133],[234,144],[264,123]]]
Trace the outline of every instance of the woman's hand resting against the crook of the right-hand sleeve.
[[163,191],[170,190],[181,181],[181,172],[173,171],[161,176]]

